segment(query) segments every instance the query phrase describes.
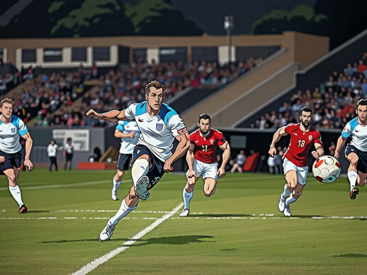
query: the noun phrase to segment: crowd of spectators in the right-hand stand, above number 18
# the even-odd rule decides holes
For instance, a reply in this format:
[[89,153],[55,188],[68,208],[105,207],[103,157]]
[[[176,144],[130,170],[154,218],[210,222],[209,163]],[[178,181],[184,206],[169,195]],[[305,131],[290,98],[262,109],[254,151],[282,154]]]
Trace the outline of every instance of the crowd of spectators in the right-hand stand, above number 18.
[[367,97],[367,52],[358,63],[349,63],[343,72],[333,72],[313,91],[298,91],[278,111],[260,117],[251,128],[279,128],[298,123],[302,107],[313,112],[311,124],[316,128],[342,129],[355,117],[356,102]]

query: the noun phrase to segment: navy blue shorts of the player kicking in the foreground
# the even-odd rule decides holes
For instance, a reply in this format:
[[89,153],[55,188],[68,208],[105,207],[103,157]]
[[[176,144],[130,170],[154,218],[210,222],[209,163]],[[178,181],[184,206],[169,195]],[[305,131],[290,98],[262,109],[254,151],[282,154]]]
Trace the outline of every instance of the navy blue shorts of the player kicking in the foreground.
[[134,164],[134,162],[137,160],[138,157],[141,155],[148,155],[150,158],[150,163],[152,164],[152,167],[149,168],[148,171],[148,178],[149,178],[149,186],[148,190],[153,188],[157,182],[161,179],[161,177],[164,175],[164,162],[161,161],[159,158],[157,158],[148,147],[145,145],[137,145],[134,147],[134,152],[132,153],[132,159],[130,162],[130,167]]

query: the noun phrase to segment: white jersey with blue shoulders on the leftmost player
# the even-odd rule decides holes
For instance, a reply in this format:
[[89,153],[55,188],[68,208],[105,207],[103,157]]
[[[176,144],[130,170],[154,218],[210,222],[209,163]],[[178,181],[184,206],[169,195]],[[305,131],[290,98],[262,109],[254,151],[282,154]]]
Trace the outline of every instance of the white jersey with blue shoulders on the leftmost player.
[[[3,115],[0,115],[0,118]],[[24,122],[17,116],[12,115],[10,123],[0,121],[0,150],[14,154],[22,149],[19,142],[20,136],[28,133],[28,128]]]

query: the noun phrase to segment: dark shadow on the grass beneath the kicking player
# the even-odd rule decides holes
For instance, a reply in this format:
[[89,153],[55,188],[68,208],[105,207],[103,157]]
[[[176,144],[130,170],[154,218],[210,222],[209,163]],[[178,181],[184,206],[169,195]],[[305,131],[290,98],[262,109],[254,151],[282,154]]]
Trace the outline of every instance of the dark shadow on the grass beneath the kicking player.
[[[209,242],[202,241],[201,239],[211,239],[213,236],[207,235],[184,235],[184,236],[167,236],[160,238],[149,238],[149,239],[138,239],[131,246],[142,246],[142,245],[152,245],[152,244],[162,244],[162,245],[188,245],[190,243],[200,243]],[[116,238],[110,239],[108,242],[126,242],[130,239]],[[43,241],[38,243],[68,243],[68,242],[99,242],[98,239],[76,239],[76,240],[59,240],[59,241]]]

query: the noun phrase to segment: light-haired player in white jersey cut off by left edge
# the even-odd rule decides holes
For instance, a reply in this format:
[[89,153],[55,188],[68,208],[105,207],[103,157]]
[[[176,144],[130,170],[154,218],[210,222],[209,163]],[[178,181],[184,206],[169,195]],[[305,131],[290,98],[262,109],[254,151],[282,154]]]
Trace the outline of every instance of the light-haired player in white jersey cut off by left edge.
[[32,138],[24,122],[12,114],[13,105],[14,101],[8,98],[0,102],[0,170],[8,177],[9,191],[19,205],[19,213],[27,213],[17,183],[22,154],[19,139],[20,137],[25,139],[26,152],[23,165],[27,166],[29,171],[32,171],[34,166],[29,159],[32,150]]

